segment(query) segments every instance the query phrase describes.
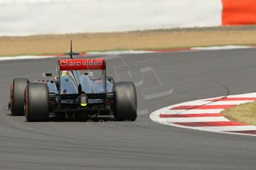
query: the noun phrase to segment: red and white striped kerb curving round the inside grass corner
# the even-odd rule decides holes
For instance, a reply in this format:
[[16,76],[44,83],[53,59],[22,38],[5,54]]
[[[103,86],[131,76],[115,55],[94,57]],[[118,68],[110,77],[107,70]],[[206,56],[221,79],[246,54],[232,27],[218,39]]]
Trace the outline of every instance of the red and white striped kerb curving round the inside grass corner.
[[151,113],[157,123],[208,132],[256,135],[256,126],[224,118],[220,112],[240,103],[256,101],[256,92],[202,99],[167,106]]

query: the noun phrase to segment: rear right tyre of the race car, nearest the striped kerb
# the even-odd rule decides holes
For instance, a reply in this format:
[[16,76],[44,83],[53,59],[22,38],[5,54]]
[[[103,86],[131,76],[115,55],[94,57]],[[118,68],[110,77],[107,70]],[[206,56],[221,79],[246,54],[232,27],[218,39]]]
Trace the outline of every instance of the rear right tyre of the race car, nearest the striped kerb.
[[137,93],[134,83],[119,82],[115,84],[114,92],[114,118],[118,121],[137,118]]

